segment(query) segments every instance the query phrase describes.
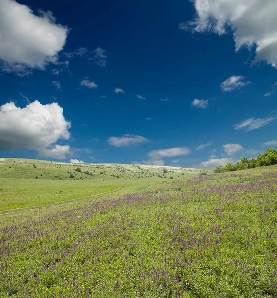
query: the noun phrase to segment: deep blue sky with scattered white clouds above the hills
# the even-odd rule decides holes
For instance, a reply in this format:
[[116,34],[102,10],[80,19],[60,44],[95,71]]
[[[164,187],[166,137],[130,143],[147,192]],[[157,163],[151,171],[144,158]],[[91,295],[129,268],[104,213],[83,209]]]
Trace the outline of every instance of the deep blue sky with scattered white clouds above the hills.
[[0,11],[2,157],[209,167],[277,148],[274,0]]

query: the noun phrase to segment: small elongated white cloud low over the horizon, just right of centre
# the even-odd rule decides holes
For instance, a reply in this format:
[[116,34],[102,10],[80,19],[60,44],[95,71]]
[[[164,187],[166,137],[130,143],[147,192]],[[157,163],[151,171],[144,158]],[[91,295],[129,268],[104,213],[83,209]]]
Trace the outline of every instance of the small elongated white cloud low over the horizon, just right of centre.
[[177,157],[189,155],[191,150],[188,147],[174,147],[168,149],[159,149],[149,152],[147,155],[150,158],[148,161],[144,161],[147,164],[164,165],[163,158]]

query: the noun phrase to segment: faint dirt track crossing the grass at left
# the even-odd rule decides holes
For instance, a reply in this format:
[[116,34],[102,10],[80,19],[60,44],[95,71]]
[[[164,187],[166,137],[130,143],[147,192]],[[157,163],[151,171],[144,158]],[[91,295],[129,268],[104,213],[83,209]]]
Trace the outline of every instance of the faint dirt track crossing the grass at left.
[[[40,209],[40,208],[43,208],[43,207],[53,207],[53,206],[57,206],[57,205],[60,205],[60,204],[65,204],[67,202],[78,201],[78,200],[82,200],[82,199],[88,199],[88,198],[91,198],[91,197],[101,196],[101,195],[105,195],[105,194],[113,194],[113,193],[119,192],[121,190],[124,190],[125,188],[126,187],[119,187],[119,188],[109,190],[109,191],[105,191],[105,192],[102,192],[102,193],[99,193],[99,194],[94,194],[94,195],[89,195],[89,196],[84,196],[84,197],[79,197],[79,198],[74,198],[74,199],[69,199],[69,200],[57,201],[57,202],[50,203],[50,204],[34,205],[34,206],[18,207],[18,208],[13,208],[13,209],[0,210],[0,216],[1,215],[6,215],[6,214],[18,213],[18,212],[22,212],[22,211],[24,212],[24,211],[29,211],[29,210]],[[7,212],[7,211],[12,211],[12,212]]]

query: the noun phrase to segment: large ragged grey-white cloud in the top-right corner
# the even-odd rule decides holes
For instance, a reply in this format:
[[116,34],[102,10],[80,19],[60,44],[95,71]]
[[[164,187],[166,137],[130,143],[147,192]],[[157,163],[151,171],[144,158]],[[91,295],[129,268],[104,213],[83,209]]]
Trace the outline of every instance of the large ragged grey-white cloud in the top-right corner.
[[183,30],[225,34],[231,29],[236,51],[255,47],[255,61],[277,65],[277,1],[275,0],[192,0],[193,21],[179,24]]

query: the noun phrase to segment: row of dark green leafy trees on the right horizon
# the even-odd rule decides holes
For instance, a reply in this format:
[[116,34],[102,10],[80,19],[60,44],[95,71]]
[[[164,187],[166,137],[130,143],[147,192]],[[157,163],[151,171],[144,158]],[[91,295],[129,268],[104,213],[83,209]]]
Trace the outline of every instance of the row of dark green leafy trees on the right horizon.
[[218,166],[215,168],[215,173],[232,172],[245,169],[253,169],[260,166],[277,164],[277,151],[273,148],[267,150],[266,153],[260,154],[257,159],[248,159],[242,157],[236,164],[227,163],[224,167]]

